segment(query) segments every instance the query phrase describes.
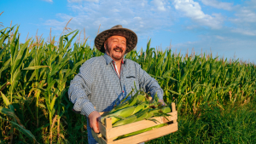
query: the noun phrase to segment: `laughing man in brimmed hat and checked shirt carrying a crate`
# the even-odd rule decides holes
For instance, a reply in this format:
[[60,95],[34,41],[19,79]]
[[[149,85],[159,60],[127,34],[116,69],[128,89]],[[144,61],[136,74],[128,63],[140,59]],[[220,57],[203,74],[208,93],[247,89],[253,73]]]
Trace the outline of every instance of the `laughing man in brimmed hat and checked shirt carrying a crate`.
[[87,129],[90,144],[96,143],[90,128],[99,133],[99,112],[113,109],[114,102],[121,101],[135,85],[151,95],[157,93],[160,102],[165,105],[163,90],[158,82],[136,62],[124,58],[136,45],[136,33],[120,25],[101,32],[95,38],[95,46],[105,54],[86,60],[70,84],[68,95],[74,104],[73,110],[89,119],[87,125],[90,127]]

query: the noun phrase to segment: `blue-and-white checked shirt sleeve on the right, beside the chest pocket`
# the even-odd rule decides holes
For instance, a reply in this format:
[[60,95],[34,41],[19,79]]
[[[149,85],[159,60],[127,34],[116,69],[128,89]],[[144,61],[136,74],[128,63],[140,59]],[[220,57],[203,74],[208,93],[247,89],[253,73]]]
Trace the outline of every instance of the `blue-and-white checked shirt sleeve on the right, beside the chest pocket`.
[[148,75],[140,65],[137,66],[137,76],[140,84],[140,88],[143,88],[144,91],[149,92],[150,95],[154,96],[157,93],[157,96],[160,100],[163,100],[164,91],[160,88],[158,82]]

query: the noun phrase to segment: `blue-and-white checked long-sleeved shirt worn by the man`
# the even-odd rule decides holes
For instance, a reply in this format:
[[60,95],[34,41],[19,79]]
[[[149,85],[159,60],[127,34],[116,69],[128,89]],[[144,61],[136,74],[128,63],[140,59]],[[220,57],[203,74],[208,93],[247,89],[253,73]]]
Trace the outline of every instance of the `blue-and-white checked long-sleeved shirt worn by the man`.
[[[163,90],[158,82],[132,60],[123,60],[119,75],[113,59],[107,54],[86,60],[79,70],[70,83],[68,95],[74,104],[73,110],[86,117],[93,111],[112,110],[115,101],[121,101],[131,89],[135,89],[135,85],[150,95],[157,92],[159,99],[163,99]],[[89,143],[94,143],[88,128]]]

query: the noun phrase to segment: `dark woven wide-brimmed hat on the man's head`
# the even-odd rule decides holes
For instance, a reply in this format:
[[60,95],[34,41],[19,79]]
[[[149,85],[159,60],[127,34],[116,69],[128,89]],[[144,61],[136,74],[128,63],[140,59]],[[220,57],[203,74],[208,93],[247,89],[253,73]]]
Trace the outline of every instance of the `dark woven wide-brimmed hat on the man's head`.
[[132,32],[127,28],[112,28],[106,31],[101,32],[95,38],[96,49],[100,50],[102,53],[105,53],[104,43],[108,37],[112,36],[123,36],[126,38],[126,51],[125,54],[129,53],[137,45],[137,34]]

